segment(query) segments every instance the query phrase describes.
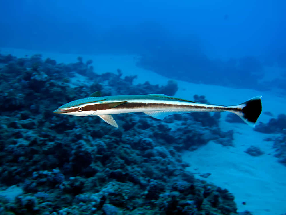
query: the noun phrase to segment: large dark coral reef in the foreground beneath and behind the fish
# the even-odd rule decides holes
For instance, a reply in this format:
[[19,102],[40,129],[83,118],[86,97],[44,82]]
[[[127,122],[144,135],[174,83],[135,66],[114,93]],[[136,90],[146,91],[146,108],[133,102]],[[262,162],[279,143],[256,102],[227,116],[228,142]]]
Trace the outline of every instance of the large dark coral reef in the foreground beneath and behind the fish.
[[52,113],[96,90],[173,95],[174,81],[132,85],[135,76],[98,75],[80,57],[57,64],[41,55],[0,55],[0,62],[0,183],[21,189],[13,200],[0,195],[2,214],[237,214],[234,196],[195,179],[179,153],[210,140],[231,145],[233,132],[220,130],[219,114],[164,121],[121,114],[115,117],[122,126],[112,128],[97,117]]

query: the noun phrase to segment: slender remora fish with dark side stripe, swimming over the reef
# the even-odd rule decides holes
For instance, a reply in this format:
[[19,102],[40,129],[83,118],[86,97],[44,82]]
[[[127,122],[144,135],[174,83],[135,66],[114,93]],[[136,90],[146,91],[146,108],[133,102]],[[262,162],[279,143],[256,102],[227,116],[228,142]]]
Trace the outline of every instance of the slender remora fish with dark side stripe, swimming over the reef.
[[228,111],[237,114],[247,124],[254,126],[262,110],[261,96],[249,99],[239,105],[223,106],[198,103],[162,94],[94,97],[95,95],[97,95],[96,92],[92,93],[90,97],[71,101],[59,107],[54,113],[99,116],[108,124],[118,128],[112,114],[143,112],[162,120],[165,116],[172,114]]

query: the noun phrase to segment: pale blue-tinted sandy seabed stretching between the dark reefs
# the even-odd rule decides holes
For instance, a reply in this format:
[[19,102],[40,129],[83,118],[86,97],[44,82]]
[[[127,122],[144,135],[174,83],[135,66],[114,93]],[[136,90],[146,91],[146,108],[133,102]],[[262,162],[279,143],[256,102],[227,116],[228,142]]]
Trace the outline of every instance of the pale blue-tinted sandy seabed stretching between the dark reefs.
[[[149,81],[151,84],[165,85],[169,78],[136,66],[138,56],[133,55],[83,55],[31,51],[15,48],[0,48],[1,54],[16,57],[42,54],[43,59],[52,58],[57,63],[76,62],[78,56],[84,61],[93,60],[94,72],[116,73],[120,68],[123,75],[138,75],[134,84]],[[269,71],[271,75],[271,71]],[[268,75],[269,75],[268,74]],[[215,85],[193,84],[177,81],[179,90],[175,97],[193,100],[194,94],[205,95],[215,104],[235,105],[252,97],[262,95],[263,112],[269,111],[275,117],[285,113],[286,100],[275,91],[255,91],[251,89],[233,89]],[[226,116],[222,113],[222,119]],[[261,114],[258,121],[268,122],[269,116]],[[225,147],[213,142],[195,151],[184,151],[182,158],[190,164],[187,169],[199,179],[201,173],[211,173],[204,179],[217,186],[228,189],[235,196],[238,211],[248,210],[255,215],[282,215],[286,213],[286,167],[273,156],[272,142],[263,141],[265,137],[275,136],[255,132],[242,123],[227,123],[221,120],[223,131],[234,130],[234,147]],[[249,146],[258,146],[265,154],[252,157],[244,151]],[[246,204],[242,204],[245,202]]]

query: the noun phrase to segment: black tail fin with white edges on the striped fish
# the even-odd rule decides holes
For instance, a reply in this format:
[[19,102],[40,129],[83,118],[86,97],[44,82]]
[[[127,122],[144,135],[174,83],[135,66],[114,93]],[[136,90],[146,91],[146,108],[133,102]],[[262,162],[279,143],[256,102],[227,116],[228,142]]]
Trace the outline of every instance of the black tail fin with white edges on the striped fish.
[[237,114],[248,125],[255,127],[255,122],[262,111],[261,97],[257,96],[240,105],[230,106],[232,108],[230,112]]

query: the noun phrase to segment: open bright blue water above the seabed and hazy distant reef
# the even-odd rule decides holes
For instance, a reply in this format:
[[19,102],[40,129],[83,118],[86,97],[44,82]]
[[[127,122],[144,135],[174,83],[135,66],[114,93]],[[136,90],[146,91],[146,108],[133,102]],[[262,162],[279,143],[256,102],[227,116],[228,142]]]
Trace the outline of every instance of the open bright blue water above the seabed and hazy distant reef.
[[2,47],[144,54],[183,46],[217,60],[285,54],[284,1],[12,0],[0,8]]

